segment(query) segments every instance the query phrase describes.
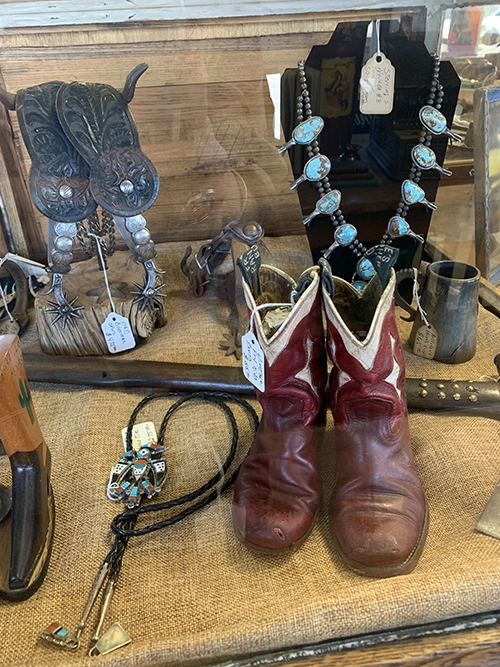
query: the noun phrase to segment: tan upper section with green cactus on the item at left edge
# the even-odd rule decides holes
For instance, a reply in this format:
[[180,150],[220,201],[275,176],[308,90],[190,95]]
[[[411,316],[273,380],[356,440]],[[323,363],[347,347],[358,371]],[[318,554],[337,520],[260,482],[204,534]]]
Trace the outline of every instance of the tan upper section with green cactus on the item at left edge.
[[17,336],[0,336],[0,440],[5,453],[32,452],[46,445],[38,425]]

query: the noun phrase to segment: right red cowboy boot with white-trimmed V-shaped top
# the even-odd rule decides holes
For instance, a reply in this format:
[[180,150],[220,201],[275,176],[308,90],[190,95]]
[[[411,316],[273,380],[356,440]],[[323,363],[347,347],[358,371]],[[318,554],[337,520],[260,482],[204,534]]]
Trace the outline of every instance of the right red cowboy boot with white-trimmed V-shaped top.
[[406,574],[423,549],[428,513],[408,429],[395,275],[391,271],[383,291],[375,276],[361,294],[331,278],[323,281],[327,349],[334,364],[331,533],[343,560],[358,574]]

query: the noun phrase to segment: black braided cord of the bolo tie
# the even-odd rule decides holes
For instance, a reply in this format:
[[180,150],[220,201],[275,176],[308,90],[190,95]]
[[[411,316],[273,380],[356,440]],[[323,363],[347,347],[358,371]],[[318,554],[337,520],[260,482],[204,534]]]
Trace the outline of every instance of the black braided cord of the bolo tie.
[[[129,423],[127,426],[127,436],[126,436],[127,451],[130,451],[132,449],[132,429],[134,427],[137,415],[142,410],[142,408],[151,401],[156,400],[157,398],[166,398],[166,397],[170,398],[173,395],[176,394],[172,394],[169,392],[159,392],[157,394],[151,394],[150,396],[146,396],[146,398],[142,399],[142,401],[137,405],[137,407],[130,415]],[[179,408],[181,408],[187,402],[193,400],[201,401],[204,403],[210,403],[212,405],[217,406],[220,410],[224,412],[231,431],[231,446],[229,448],[228,455],[224,463],[220,467],[219,471],[215,475],[213,475],[207,482],[205,482],[205,484],[202,484],[202,486],[200,486],[195,491],[192,491],[183,496],[180,496],[179,498],[174,498],[173,500],[168,500],[163,503],[153,503],[151,505],[146,505],[144,507],[134,507],[133,509],[129,509],[126,510],[125,512],[122,512],[121,514],[118,514],[113,519],[113,521],[111,522],[111,530],[115,533],[115,539],[113,546],[111,547],[108,555],[104,559],[104,562],[109,564],[109,579],[111,579],[114,582],[117,581],[118,576],[120,574],[123,555],[125,553],[128,541],[131,537],[137,537],[139,535],[148,535],[149,533],[160,530],[161,528],[166,528],[167,526],[173,526],[175,523],[182,521],[182,519],[185,519],[186,517],[196,512],[197,510],[202,509],[203,507],[209,505],[220,495],[220,493],[222,493],[228,487],[230,487],[231,484],[233,484],[233,482],[236,480],[239,471],[239,466],[229,475],[227,479],[225,479],[226,473],[231,467],[234,458],[236,456],[236,451],[238,448],[238,440],[239,440],[239,431],[233,411],[228,405],[226,405],[224,401],[232,401],[237,405],[239,405],[240,407],[242,407],[250,417],[250,421],[252,422],[255,430],[257,430],[257,427],[259,425],[259,418],[253,407],[247,401],[245,401],[242,398],[239,398],[238,396],[232,396],[231,394],[226,394],[222,392],[195,392],[193,394],[182,396],[167,410],[165,416],[163,417],[163,421],[161,423],[160,431],[158,434],[158,444],[163,445],[163,440],[165,437],[165,431],[167,425],[172,416],[175,414],[175,412],[177,412],[177,410],[179,410]],[[206,494],[208,491],[210,491],[210,489],[212,489],[216,485],[219,485],[220,488],[216,488],[211,493],[204,496],[204,494]],[[193,503],[193,501],[196,501],[201,496],[204,497],[198,500],[197,502]],[[144,528],[137,528],[137,529],[135,528],[137,519],[141,514],[147,514],[150,512],[161,512],[164,510],[171,509],[172,507],[185,505],[186,503],[190,502],[193,504],[189,505],[178,514],[175,514],[174,516],[171,516],[168,519],[164,519],[163,521],[158,521],[156,523],[145,526]]]

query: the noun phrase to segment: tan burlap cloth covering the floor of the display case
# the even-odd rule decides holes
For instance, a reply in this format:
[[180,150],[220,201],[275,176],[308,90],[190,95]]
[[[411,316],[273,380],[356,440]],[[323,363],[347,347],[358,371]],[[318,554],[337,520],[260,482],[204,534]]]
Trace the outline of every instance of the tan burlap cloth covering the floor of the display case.
[[[276,264],[295,277],[308,264],[303,239],[268,239]],[[196,244],[195,244],[196,245]],[[217,350],[226,331],[220,301],[190,295],[179,271],[183,244],[163,248],[169,323],[132,359],[236,364]],[[479,379],[495,375],[500,320],[480,308],[474,359],[449,367],[415,357],[400,320],[409,376]],[[25,349],[36,347],[33,333]],[[56,363],[56,359],[54,363]],[[89,658],[91,628],[75,654],[37,643],[52,621],[75,628],[96,570],[110,545],[109,523],[118,506],[105,496],[109,470],[122,451],[120,431],[144,391],[33,385],[34,403],[53,456],[57,526],[45,583],[29,600],[0,602],[0,665],[116,665],[152,667],[220,662],[329,638],[431,622],[500,607],[500,541],[474,530],[500,477],[500,425],[457,413],[413,413],[414,452],[430,505],[426,547],[414,572],[386,580],[349,571],[328,535],[326,507],[334,469],[331,420],[319,463],[323,511],[306,543],[278,556],[253,553],[233,534],[231,491],[180,524],[131,540],[107,625],[119,621],[133,641]],[[144,416],[157,428],[172,399],[156,401]],[[242,425],[242,446],[249,427]],[[191,406],[166,438],[170,477],[162,498],[196,488],[211,476],[229,446],[224,419],[214,408]],[[2,461],[0,472],[6,476]]]

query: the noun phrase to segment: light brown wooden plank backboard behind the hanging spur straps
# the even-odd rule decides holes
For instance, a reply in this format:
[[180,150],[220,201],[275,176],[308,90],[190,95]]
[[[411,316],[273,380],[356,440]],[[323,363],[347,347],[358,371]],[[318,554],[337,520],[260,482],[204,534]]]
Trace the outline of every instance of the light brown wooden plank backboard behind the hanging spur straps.
[[[120,88],[135,65],[147,62],[131,109],[161,179],[146,213],[154,240],[210,238],[233,219],[257,220],[267,234],[302,233],[289,162],[275,150],[266,75],[295,67],[314,44],[327,42],[340,16],[368,17],[4,30],[0,74],[12,92],[54,79]],[[43,260],[47,223],[26,196],[30,162],[15,113],[10,123],[13,151],[2,149],[8,174],[0,160],[0,188],[13,193],[9,218],[19,250]],[[5,128],[3,138],[5,144]]]

